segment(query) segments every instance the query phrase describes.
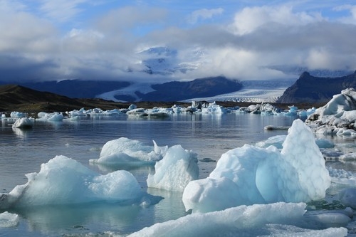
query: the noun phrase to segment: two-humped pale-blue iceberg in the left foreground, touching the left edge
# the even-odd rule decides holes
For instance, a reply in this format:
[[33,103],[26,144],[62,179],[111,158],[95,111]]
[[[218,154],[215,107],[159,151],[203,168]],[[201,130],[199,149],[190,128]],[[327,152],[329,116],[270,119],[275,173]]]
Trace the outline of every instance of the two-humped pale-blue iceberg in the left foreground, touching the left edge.
[[50,159],[41,164],[40,172],[26,177],[26,184],[1,195],[0,209],[94,201],[147,205],[159,199],[142,191],[130,172],[119,170],[101,175],[65,156]]

